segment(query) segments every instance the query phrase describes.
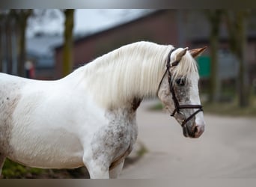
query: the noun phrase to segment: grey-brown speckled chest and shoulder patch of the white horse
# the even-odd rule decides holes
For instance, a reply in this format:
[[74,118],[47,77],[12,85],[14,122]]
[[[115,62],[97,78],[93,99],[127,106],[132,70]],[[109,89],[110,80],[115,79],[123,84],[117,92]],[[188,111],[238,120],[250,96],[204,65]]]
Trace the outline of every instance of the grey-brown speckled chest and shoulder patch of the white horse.
[[93,159],[100,162],[104,160],[107,165],[132,147],[138,135],[138,127],[135,113],[126,110],[107,112],[106,119],[109,123],[94,134],[91,147]]

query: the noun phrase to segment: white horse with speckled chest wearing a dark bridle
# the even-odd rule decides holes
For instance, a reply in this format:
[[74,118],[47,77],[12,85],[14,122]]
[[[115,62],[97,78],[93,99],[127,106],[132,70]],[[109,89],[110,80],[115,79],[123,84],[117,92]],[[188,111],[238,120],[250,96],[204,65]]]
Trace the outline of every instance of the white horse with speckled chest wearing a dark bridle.
[[138,42],[55,81],[0,73],[0,174],[9,158],[35,168],[85,165],[91,178],[118,177],[137,138],[135,111],[147,96],[159,96],[183,134],[198,138],[204,116],[194,58],[203,51]]

